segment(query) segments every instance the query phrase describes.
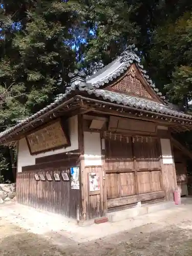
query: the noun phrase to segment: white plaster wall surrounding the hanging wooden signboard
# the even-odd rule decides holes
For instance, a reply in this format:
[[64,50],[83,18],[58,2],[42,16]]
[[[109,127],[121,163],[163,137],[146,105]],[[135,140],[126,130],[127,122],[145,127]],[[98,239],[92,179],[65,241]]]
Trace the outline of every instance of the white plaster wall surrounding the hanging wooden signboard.
[[50,155],[55,155],[58,153],[68,152],[72,150],[78,150],[78,123],[77,116],[69,118],[69,136],[71,141],[71,146],[66,148],[59,148],[59,150],[48,151],[45,153],[40,153],[37,155],[30,155],[27,141],[25,138],[19,140],[18,142],[18,159],[17,159],[17,172],[22,172],[22,166],[35,164],[35,158],[45,157]]

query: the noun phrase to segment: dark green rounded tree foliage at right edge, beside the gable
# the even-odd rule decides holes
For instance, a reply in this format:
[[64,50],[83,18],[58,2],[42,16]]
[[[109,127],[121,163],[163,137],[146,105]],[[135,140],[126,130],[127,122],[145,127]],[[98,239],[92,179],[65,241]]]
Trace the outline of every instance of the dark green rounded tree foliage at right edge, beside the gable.
[[167,20],[153,37],[151,62],[160,86],[170,100],[188,106],[192,99],[192,16],[184,13],[176,21]]

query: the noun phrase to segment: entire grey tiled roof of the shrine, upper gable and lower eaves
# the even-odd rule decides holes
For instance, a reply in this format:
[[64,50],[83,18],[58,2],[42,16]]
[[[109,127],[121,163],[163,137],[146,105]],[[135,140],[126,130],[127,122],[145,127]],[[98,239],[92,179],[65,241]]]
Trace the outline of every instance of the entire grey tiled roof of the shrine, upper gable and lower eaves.
[[120,57],[118,57],[112,63],[105,66],[103,69],[99,70],[86,80],[83,80],[82,78],[73,78],[73,82],[71,82],[71,86],[67,88],[65,94],[58,95],[55,101],[50,105],[46,106],[46,108],[20,121],[18,124],[11,127],[10,129],[7,129],[6,131],[0,133],[0,140],[3,140],[4,136],[12,134],[15,131],[21,132],[23,127],[27,126],[31,121],[39,119],[42,115],[49,113],[51,110],[57,108],[60,104],[67,100],[67,97],[69,97],[71,92],[75,92],[76,95],[80,95],[81,92],[83,94],[87,93],[88,97],[89,95],[92,95],[93,97],[97,97],[99,99],[102,98],[103,101],[108,101],[112,103],[114,102],[122,106],[130,106],[131,108],[135,108],[138,110],[146,110],[163,115],[191,119],[191,115],[187,115],[183,112],[179,112],[177,110],[169,108],[166,104],[102,89],[102,86],[104,86],[105,83],[109,83],[113,79],[116,79],[118,76],[124,73],[127,70],[127,68],[129,68],[132,65],[133,62],[136,62],[141,73],[143,74],[143,77],[147,80],[147,82],[150,84],[153,90],[162,99],[164,99],[162,94],[158,92],[158,89],[155,87],[153,81],[148,77],[148,75],[146,75],[146,71],[143,70],[143,66],[140,65],[140,58],[135,54],[133,48],[135,48],[135,46],[130,46],[129,49],[127,49],[121,54]]

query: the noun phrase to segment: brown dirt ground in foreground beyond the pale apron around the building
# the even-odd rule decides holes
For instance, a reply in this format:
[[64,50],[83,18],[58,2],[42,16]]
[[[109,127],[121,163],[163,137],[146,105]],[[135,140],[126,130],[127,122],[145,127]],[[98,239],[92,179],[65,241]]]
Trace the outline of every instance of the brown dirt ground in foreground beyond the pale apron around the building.
[[[0,217],[0,255],[191,256],[192,202],[180,206],[180,210],[174,208],[171,213],[170,211],[168,213],[161,211],[159,216],[161,220],[158,222],[83,243],[78,243],[53,230],[42,234],[31,232],[20,225],[13,224],[10,218],[3,216]],[[100,232],[105,227],[102,225],[97,225]],[[86,229],[84,230],[86,231]]]

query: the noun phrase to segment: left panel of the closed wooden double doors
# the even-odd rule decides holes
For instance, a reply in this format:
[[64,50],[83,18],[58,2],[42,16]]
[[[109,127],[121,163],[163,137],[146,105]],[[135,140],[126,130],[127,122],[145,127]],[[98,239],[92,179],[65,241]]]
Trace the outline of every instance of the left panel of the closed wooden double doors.
[[105,173],[108,199],[135,195],[135,174],[131,137],[106,138]]

